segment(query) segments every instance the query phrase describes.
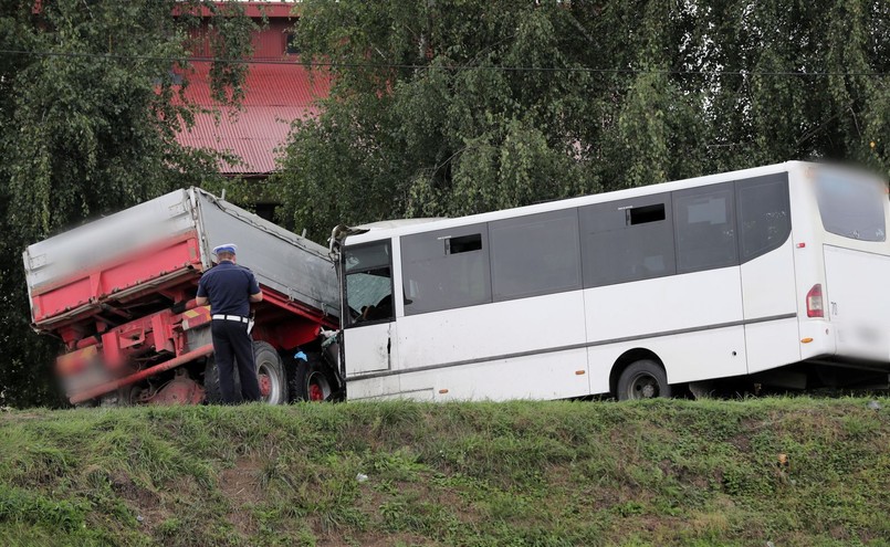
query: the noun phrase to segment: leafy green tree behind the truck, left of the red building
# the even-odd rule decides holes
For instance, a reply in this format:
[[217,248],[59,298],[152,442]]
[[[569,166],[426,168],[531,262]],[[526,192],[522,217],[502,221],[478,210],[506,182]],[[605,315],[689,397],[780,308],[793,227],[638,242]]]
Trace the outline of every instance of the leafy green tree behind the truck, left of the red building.
[[[214,158],[176,133],[195,106],[192,32],[209,18],[217,56],[250,52],[237,4],[191,0],[0,0],[0,403],[55,404],[57,345],[30,334],[25,245],[174,188],[218,178]],[[211,71],[218,99],[239,98],[247,65]]]

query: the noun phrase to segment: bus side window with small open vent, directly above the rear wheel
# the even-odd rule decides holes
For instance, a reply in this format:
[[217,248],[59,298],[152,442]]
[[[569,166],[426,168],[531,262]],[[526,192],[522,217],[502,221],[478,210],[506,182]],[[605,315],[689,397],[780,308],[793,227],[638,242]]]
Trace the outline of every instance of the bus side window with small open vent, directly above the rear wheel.
[[585,287],[677,273],[668,194],[596,203],[578,212]]

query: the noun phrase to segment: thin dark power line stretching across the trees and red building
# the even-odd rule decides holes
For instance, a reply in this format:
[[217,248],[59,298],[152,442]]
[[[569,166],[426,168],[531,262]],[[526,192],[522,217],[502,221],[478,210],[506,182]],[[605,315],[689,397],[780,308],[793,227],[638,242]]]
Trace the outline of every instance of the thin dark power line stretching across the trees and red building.
[[4,55],[31,55],[43,57],[97,59],[107,61],[158,61],[167,63],[223,63],[256,65],[293,65],[315,69],[398,69],[413,71],[502,71],[502,72],[580,72],[595,74],[664,74],[664,75],[701,75],[701,76],[865,76],[887,77],[886,72],[799,72],[799,71],[706,71],[706,70],[642,70],[642,69],[593,69],[587,66],[501,66],[501,65],[426,65],[398,63],[326,63],[320,61],[300,62],[278,59],[223,59],[223,57],[165,57],[155,55],[121,55],[114,53],[75,53],[52,51],[0,50]]

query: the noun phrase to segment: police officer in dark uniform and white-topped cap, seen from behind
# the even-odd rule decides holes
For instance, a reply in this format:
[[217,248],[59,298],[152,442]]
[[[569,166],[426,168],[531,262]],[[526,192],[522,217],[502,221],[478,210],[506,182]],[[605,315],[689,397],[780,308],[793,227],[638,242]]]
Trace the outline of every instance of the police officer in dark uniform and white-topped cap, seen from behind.
[[238,377],[241,380],[240,399],[245,402],[261,399],[248,323],[250,303],[262,302],[263,293],[253,272],[234,263],[237,251],[238,246],[233,243],[213,249],[219,264],[201,276],[196,298],[199,306],[210,302],[210,333],[219,368],[220,392],[226,403],[239,401],[234,392],[233,361],[238,362]]

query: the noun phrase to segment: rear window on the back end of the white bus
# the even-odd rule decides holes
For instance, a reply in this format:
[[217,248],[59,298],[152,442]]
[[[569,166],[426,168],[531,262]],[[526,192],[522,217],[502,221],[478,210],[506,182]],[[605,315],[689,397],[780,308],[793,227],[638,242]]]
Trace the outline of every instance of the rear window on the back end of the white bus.
[[844,173],[820,172],[816,199],[825,230],[862,241],[884,241],[883,188],[875,180]]

